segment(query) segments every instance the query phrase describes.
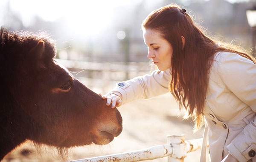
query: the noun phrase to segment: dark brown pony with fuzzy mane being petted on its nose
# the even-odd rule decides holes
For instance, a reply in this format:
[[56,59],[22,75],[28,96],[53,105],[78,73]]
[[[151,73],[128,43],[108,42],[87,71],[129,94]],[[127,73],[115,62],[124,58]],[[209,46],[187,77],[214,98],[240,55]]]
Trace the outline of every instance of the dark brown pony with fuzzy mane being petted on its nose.
[[26,140],[65,149],[107,144],[122,132],[117,109],[53,60],[45,34],[0,29],[0,160]]

